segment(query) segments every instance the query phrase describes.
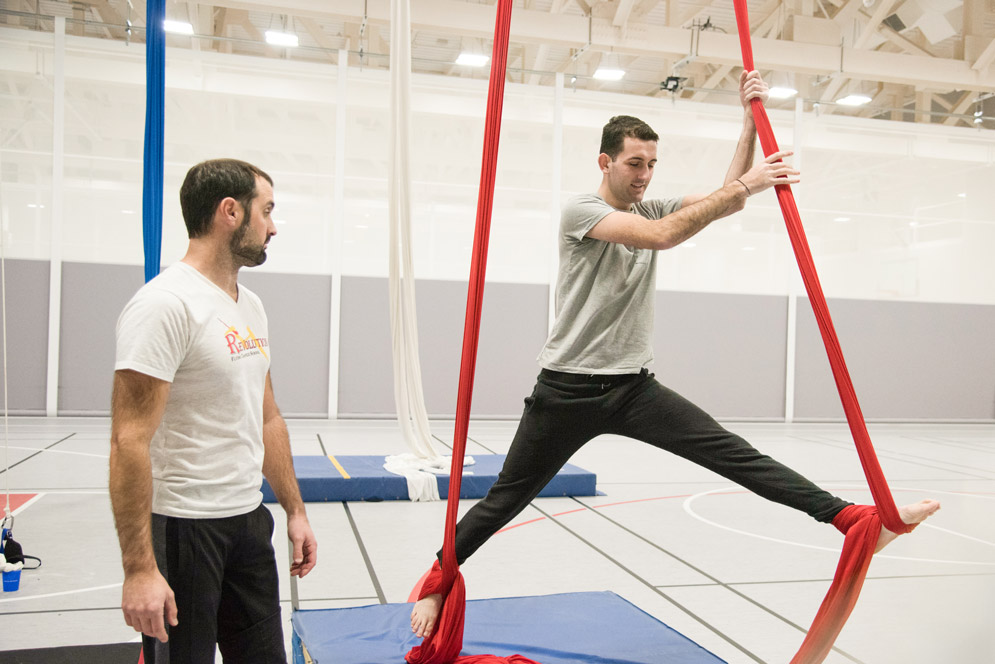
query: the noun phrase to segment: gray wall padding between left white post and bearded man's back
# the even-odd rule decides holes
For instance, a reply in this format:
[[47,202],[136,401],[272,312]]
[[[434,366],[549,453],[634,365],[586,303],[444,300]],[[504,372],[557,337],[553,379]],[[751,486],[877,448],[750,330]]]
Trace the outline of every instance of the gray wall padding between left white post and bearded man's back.
[[114,326],[144,281],[137,265],[62,264],[60,414],[110,412]]

